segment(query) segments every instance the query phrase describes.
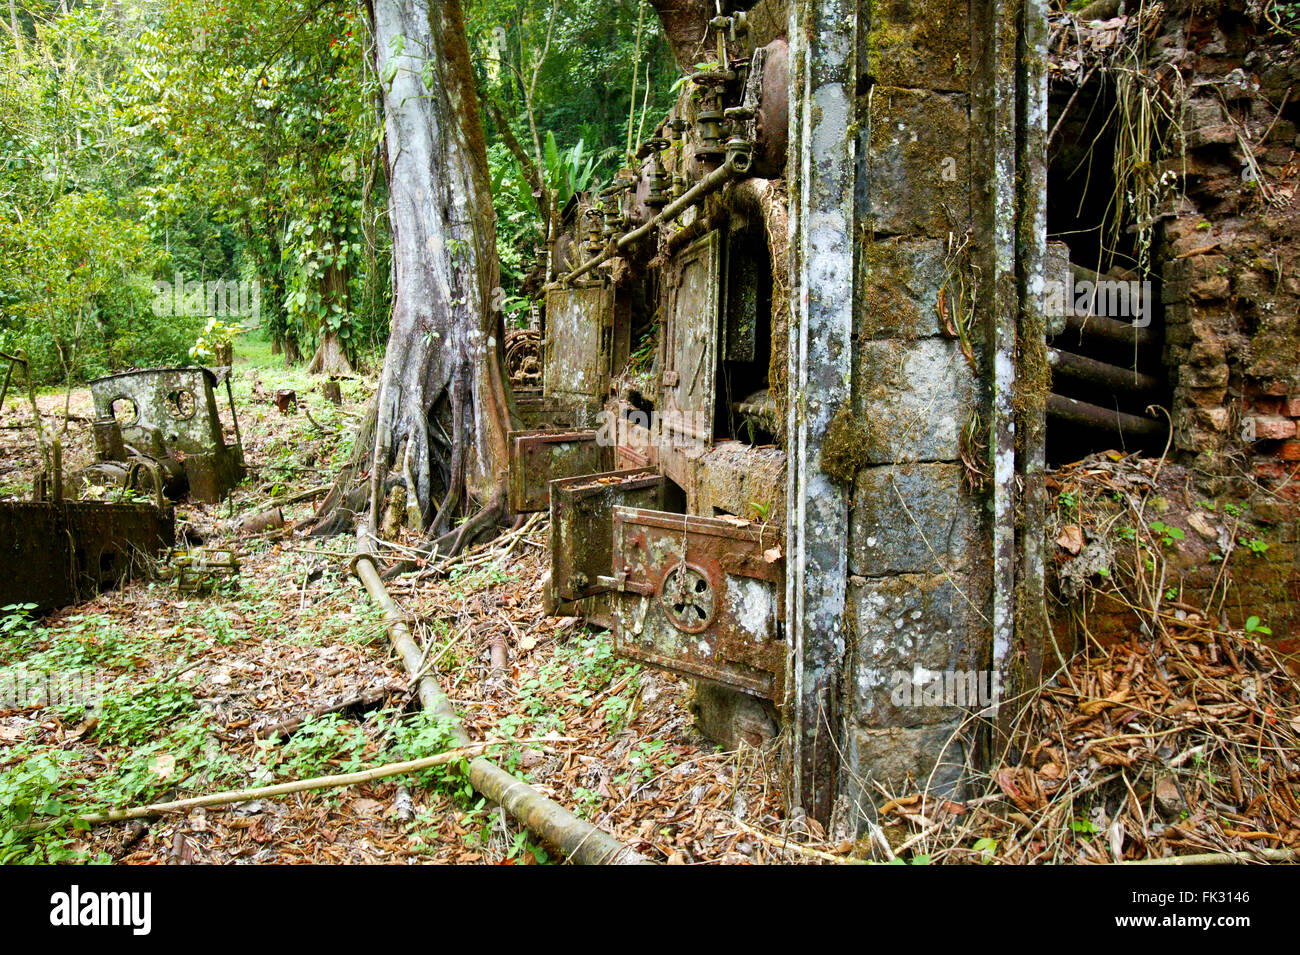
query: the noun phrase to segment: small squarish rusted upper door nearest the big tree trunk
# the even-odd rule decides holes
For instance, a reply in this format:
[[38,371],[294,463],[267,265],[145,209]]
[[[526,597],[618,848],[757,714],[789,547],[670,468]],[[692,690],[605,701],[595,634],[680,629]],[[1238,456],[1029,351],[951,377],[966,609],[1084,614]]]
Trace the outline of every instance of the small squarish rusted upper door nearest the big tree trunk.
[[545,396],[602,400],[610,388],[612,347],[611,286],[592,282],[546,294]]

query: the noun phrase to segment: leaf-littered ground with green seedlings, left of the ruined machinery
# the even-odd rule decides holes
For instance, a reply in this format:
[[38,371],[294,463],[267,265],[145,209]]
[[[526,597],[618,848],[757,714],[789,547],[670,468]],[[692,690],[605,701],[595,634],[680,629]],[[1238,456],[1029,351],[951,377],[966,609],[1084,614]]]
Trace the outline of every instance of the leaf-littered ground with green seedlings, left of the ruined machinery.
[[[179,504],[177,525],[209,550],[235,547],[237,576],[204,595],[136,581],[39,621],[0,611],[0,670],[94,670],[104,686],[90,711],[0,709],[0,861],[562,861],[456,768],[147,824],[69,824],[81,812],[352,772],[446,746],[347,573],[350,538],[295,533],[309,503],[286,508],[282,529],[234,535],[269,498],[330,479],[373,381],[343,381],[335,407],[320,379],[240,342],[234,383],[251,477],[220,505]],[[280,388],[298,395],[287,414],[274,404]],[[39,398],[47,427],[64,398]],[[73,470],[91,460],[88,392],[74,391],[68,407]],[[25,398],[0,409],[0,496],[30,491],[39,460],[30,413]],[[510,547],[489,543],[446,573],[390,586],[471,737],[500,741],[489,754],[499,764],[659,861],[848,860],[854,843],[827,845],[815,824],[809,833],[783,819],[774,754],[724,752],[692,729],[686,683],[614,657],[607,634],[576,618],[543,616],[545,554],[542,518]],[[507,644],[503,672],[490,667],[494,637]],[[18,820],[53,825],[32,833]]]

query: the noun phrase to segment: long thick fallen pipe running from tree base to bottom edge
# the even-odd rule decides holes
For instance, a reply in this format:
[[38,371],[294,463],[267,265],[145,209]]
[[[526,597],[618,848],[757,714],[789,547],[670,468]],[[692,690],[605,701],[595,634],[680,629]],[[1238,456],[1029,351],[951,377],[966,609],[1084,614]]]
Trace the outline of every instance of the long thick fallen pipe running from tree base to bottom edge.
[[[387,626],[393,647],[402,657],[407,673],[415,678],[422,664],[420,647],[411,637],[411,628],[407,626],[402,611],[389,596],[389,591],[380,578],[380,572],[374,567],[374,559],[364,548],[363,537],[360,552],[352,557],[350,569],[365,585],[370,599],[384,611],[384,622]],[[469,746],[469,734],[465,733],[464,724],[433,677],[420,677],[419,694],[420,704],[428,713],[446,720],[456,746]],[[580,865],[650,864],[650,860],[636,850],[578,819],[559,803],[547,799],[526,782],[515,778],[482,756],[469,761],[469,785]]]

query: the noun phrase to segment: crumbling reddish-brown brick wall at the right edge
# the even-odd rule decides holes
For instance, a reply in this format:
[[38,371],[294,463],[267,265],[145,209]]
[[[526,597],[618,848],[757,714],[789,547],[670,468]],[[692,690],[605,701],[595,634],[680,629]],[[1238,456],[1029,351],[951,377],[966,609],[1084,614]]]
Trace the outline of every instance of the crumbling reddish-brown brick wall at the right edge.
[[[1214,622],[1257,616],[1295,652],[1300,44],[1240,4],[1171,1],[1152,52],[1182,117],[1180,148],[1162,170],[1175,195],[1154,249],[1176,465],[1154,496],[1158,520],[1186,531],[1166,555],[1169,586],[1195,608],[1218,586]],[[1058,635],[1078,635],[1082,622],[1102,641],[1141,625],[1098,594],[1056,609]]]

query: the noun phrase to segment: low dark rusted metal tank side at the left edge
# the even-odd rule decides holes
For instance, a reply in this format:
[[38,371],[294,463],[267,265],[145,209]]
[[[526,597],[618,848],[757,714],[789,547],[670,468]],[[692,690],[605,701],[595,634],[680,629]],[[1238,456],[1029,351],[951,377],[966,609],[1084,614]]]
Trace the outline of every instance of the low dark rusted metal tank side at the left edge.
[[100,502],[0,502],[0,607],[40,611],[130,578],[176,541],[169,508]]

